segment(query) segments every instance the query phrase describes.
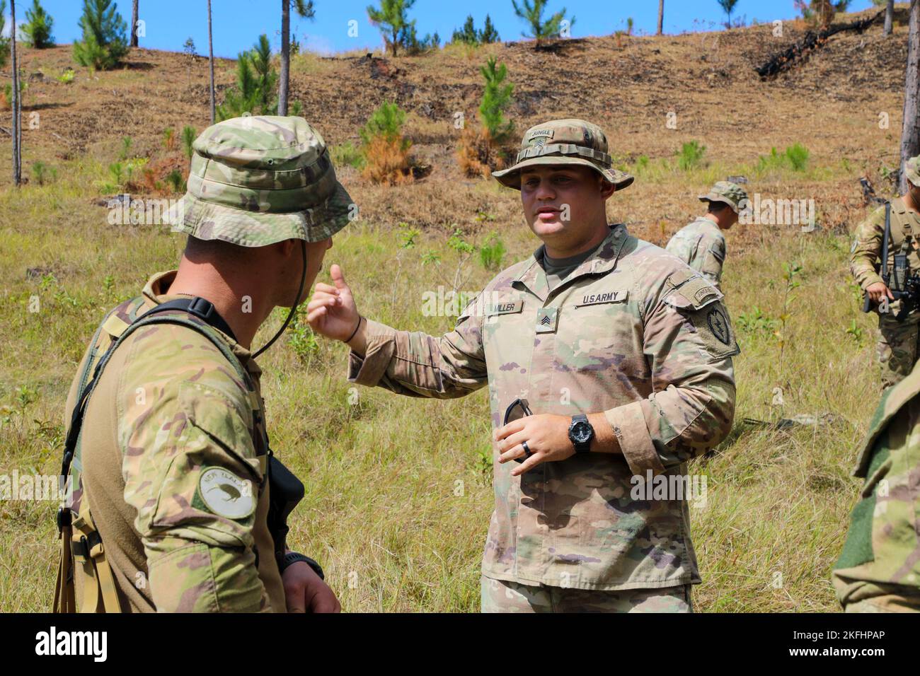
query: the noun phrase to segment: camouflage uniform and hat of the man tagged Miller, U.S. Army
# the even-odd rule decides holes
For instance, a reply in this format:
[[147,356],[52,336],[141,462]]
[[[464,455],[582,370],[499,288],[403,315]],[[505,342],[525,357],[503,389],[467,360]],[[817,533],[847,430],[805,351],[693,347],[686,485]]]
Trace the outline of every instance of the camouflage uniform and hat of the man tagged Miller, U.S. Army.
[[[522,149],[544,165],[592,157],[605,178],[628,185],[632,177],[611,169],[609,155],[604,163],[605,153],[603,132],[581,120],[539,125]],[[442,338],[369,321],[349,379],[438,398],[488,383],[493,430],[518,397],[534,414],[603,411],[622,454],[577,454],[518,477],[512,463],[494,462],[483,610],[502,599],[500,609],[519,609],[513,585],[533,598],[571,592],[546,608],[641,609],[657,594],[648,609],[687,610],[688,586],[700,581],[687,502],[634,499],[631,479],[685,475],[687,461],[730,430],[738,348],[722,294],[623,224],[552,290],[542,250],[500,272]],[[491,593],[496,586],[508,590]]]

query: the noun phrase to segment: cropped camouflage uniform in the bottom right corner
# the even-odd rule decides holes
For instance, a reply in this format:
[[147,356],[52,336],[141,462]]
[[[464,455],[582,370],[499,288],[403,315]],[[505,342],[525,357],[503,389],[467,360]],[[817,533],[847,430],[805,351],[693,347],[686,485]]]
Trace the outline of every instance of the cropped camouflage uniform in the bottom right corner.
[[834,567],[847,613],[920,612],[920,369],[882,395],[855,475],[864,477]]

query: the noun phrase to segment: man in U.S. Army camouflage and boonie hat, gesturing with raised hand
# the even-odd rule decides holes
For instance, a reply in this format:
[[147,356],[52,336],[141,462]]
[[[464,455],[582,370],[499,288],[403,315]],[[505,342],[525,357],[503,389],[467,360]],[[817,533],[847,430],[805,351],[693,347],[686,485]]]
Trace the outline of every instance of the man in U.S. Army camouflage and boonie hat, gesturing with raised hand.
[[489,281],[453,331],[363,318],[335,265],[307,320],[349,345],[351,382],[438,398],[489,387],[483,611],[687,612],[700,581],[689,496],[653,495],[650,479],[674,486],[730,430],[738,348],[722,294],[607,222],[605,202],[633,178],[591,122],[531,128],[493,176],[521,191],[543,245]]

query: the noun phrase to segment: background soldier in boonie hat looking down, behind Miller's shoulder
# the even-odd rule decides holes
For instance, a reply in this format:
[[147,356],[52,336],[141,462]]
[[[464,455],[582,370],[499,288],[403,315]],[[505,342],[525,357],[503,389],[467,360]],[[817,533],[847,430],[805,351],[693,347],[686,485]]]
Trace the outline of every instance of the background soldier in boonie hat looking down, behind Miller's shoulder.
[[706,202],[707,212],[674,233],[665,248],[719,287],[726,256],[722,231],[738,223],[747,200],[747,193],[737,183],[718,181],[699,196],[699,201]]

